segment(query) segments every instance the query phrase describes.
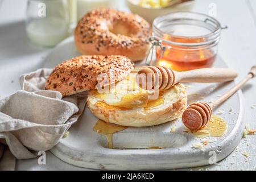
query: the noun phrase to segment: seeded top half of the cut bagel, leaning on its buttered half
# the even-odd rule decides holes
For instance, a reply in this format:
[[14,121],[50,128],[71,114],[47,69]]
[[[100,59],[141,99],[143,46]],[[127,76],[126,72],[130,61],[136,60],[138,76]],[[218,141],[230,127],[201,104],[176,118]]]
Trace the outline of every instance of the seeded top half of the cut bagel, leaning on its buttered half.
[[[69,96],[122,80],[133,70],[125,56],[79,56],[57,65],[46,81],[46,90]],[[98,80],[99,76],[104,76]]]

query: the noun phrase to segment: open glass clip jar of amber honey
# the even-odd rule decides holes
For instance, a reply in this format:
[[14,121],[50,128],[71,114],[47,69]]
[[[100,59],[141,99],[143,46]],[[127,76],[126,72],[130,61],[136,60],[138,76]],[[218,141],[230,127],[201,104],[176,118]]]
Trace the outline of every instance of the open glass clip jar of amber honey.
[[220,23],[208,15],[176,12],[159,16],[150,39],[156,64],[176,71],[211,67],[220,35]]

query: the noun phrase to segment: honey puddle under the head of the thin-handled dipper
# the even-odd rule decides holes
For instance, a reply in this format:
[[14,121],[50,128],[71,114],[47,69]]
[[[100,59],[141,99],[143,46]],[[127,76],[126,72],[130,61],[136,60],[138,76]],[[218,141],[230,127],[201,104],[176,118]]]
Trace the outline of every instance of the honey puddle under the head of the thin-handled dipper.
[[223,118],[212,115],[208,124],[200,130],[191,131],[195,137],[223,137],[227,129],[227,124]]

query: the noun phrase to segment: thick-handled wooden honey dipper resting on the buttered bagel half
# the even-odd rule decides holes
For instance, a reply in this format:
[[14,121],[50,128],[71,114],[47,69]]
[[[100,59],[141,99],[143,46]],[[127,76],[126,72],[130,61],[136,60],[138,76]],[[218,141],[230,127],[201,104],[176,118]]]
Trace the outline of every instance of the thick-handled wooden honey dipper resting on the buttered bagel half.
[[237,72],[228,68],[203,68],[176,72],[166,67],[144,67],[136,75],[143,89],[167,90],[178,82],[224,82],[234,80]]

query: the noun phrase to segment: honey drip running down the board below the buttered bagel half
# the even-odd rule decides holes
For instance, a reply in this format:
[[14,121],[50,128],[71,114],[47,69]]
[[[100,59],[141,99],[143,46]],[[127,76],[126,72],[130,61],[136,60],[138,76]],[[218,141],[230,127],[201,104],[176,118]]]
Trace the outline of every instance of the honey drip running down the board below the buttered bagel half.
[[112,137],[114,133],[127,129],[127,126],[114,125],[112,123],[106,123],[101,119],[93,127],[93,130],[98,134],[104,135],[108,141],[109,148],[113,148]]

